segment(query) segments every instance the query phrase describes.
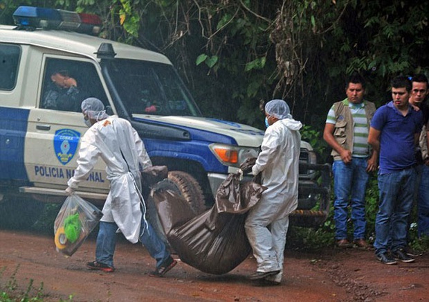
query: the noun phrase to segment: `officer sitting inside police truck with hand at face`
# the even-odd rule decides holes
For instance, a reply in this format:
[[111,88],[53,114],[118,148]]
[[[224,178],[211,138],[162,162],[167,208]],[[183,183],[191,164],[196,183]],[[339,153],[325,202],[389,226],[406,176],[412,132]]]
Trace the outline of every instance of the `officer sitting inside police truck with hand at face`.
[[42,108],[61,111],[80,112],[82,95],[77,88],[77,81],[66,70],[51,73],[51,82],[46,87],[42,99]]

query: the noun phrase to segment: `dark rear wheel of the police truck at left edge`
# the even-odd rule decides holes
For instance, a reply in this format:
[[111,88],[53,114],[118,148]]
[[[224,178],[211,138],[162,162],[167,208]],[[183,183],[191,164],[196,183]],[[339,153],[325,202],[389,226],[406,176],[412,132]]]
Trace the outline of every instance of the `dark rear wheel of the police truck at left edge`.
[[45,204],[35,200],[3,199],[0,202],[0,227],[28,229],[39,219]]

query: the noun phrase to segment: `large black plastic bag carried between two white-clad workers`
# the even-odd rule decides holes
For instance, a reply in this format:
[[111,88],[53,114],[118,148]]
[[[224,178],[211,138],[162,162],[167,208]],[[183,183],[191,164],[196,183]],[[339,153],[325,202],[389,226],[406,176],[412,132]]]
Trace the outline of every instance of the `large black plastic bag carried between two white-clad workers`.
[[246,212],[266,188],[253,182],[241,184],[230,174],[216,195],[216,204],[194,217],[179,193],[152,190],[161,224],[170,246],[181,260],[201,272],[225,274],[243,262],[251,251],[244,231]]

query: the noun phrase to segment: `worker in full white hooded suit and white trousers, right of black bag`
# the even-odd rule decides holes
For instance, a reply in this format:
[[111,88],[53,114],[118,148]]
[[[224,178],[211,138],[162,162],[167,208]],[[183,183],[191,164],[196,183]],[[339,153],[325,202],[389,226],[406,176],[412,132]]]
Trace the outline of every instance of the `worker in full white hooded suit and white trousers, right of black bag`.
[[265,105],[266,132],[253,175],[262,173],[267,189],[250,209],[244,227],[257,260],[250,280],[282,281],[289,214],[298,206],[298,165],[302,123],[295,121],[284,100]]

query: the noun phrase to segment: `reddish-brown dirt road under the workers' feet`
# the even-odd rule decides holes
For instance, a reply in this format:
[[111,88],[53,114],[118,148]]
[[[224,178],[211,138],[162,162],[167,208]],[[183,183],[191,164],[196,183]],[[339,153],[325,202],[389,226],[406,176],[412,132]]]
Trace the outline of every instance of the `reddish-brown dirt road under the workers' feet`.
[[[71,257],[55,251],[51,236],[0,231],[0,287],[16,281],[26,290],[43,284],[44,301],[427,301],[429,255],[416,263],[382,265],[373,251],[327,249],[317,254],[286,249],[284,280],[266,286],[247,281],[255,270],[248,257],[232,272],[215,276],[180,263],[164,278],[147,276],[154,267],[143,247],[120,240],[116,272],[89,271],[95,240]],[[16,274],[14,275],[14,272]],[[0,299],[1,300],[1,299]]]

